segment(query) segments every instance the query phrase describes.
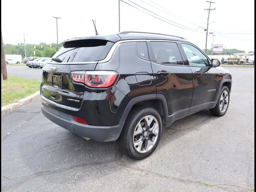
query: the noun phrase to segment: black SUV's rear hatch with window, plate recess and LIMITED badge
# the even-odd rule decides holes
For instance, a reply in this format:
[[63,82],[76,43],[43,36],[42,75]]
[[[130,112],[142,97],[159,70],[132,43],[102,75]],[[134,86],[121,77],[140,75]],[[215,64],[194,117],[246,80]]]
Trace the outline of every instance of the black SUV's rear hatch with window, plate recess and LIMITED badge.
[[94,70],[97,62],[106,57],[113,44],[100,39],[64,42],[63,47],[52,57],[53,60],[43,68],[42,99],[56,103],[61,108],[79,110],[87,88],[83,83],[74,82],[70,72]]

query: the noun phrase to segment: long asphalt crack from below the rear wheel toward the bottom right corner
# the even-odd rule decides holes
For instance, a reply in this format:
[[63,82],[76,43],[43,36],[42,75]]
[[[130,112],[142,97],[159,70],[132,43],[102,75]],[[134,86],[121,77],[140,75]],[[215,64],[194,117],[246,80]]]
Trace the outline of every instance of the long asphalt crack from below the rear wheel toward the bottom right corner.
[[[116,162],[118,164],[118,162]],[[201,185],[204,185],[204,186],[208,186],[208,187],[217,187],[217,188],[222,188],[222,189],[225,189],[225,190],[230,190],[230,191],[236,191],[234,189],[231,189],[231,188],[225,188],[221,185],[224,185],[224,186],[233,186],[233,187],[237,187],[237,188],[241,188],[241,189],[244,189],[244,190],[248,190],[250,191],[249,188],[246,188],[246,187],[242,187],[242,186],[237,186],[237,185],[232,185],[232,184],[209,184],[209,183],[206,183],[206,182],[202,182],[202,181],[196,181],[196,180],[190,180],[190,179],[180,179],[180,178],[176,178],[176,177],[173,177],[173,176],[168,176],[168,175],[163,175],[163,174],[160,174],[160,173],[156,173],[156,172],[153,172],[153,171],[150,171],[150,170],[146,170],[146,169],[142,169],[142,168],[139,168],[138,166],[136,166],[137,168],[134,168],[134,167],[131,167],[131,166],[127,166],[127,165],[124,165],[124,164],[118,164],[118,165],[121,165],[121,166],[124,166],[126,168],[130,168],[130,169],[133,169],[133,170],[140,170],[142,172],[148,172],[148,173],[151,173],[151,174],[155,174],[155,175],[158,175],[160,177],[164,177],[164,178],[168,178],[168,179],[173,179],[173,180],[177,180],[179,182],[191,182],[191,183],[198,183],[198,184],[201,184]]]

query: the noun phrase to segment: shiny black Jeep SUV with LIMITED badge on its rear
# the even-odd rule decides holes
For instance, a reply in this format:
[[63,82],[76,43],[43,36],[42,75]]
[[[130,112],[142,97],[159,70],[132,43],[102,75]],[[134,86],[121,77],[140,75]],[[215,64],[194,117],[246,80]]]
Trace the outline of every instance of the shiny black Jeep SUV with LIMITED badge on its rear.
[[72,38],[43,68],[42,113],[86,139],[143,159],[162,129],[202,109],[226,113],[232,77],[188,40],[121,32]]

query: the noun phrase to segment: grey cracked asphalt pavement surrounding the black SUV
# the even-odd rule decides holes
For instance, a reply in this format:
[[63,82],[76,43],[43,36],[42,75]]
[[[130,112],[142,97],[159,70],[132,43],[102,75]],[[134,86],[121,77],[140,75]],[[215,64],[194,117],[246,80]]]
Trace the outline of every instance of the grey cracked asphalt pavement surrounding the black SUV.
[[254,191],[254,68],[226,68],[227,113],[203,110],[174,122],[140,161],[116,142],[87,141],[50,122],[39,99],[3,115],[2,191]]

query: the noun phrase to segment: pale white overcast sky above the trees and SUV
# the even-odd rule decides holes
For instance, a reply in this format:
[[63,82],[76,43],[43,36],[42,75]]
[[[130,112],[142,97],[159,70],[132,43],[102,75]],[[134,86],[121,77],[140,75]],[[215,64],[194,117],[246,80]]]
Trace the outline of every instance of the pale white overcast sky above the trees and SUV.
[[[212,34],[208,34],[207,48],[214,40],[227,49],[254,51],[254,0],[212,1],[211,8],[216,10],[210,12],[208,32]],[[205,0],[120,0],[120,31],[182,36],[204,49],[208,17],[204,9],[209,5]],[[4,44],[24,43],[23,34],[26,44],[56,43],[56,19],[52,16],[60,17],[59,43],[94,36],[92,19],[99,34],[118,33],[118,0],[2,0]]]

